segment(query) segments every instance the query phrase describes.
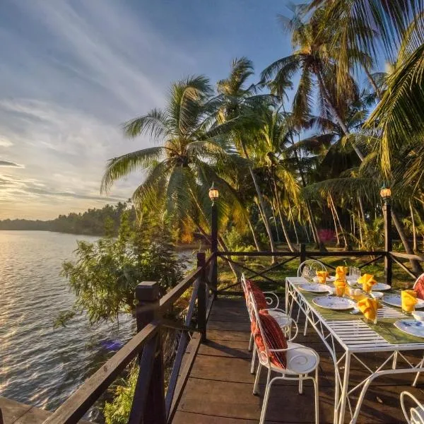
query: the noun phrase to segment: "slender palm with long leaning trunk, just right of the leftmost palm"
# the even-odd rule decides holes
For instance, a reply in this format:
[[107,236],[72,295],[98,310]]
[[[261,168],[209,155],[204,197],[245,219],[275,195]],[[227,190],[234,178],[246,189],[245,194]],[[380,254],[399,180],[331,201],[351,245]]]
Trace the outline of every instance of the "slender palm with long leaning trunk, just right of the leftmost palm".
[[266,232],[269,237],[271,250],[275,251],[276,246],[273,241],[273,234],[269,217],[266,213],[266,205],[261,187],[255,175],[251,158],[249,157],[247,145],[251,140],[251,133],[256,131],[260,124],[260,112],[264,108],[264,100],[269,100],[267,95],[255,95],[254,86],[245,87],[248,78],[253,74],[252,61],[246,57],[234,59],[231,64],[230,75],[221,81],[218,81],[218,98],[221,106],[218,111],[218,122],[225,124],[232,119],[240,118],[244,124],[235,126],[232,131],[232,141],[240,151],[240,154],[247,159],[249,173],[254,183],[254,188],[259,201],[259,210],[264,220]]

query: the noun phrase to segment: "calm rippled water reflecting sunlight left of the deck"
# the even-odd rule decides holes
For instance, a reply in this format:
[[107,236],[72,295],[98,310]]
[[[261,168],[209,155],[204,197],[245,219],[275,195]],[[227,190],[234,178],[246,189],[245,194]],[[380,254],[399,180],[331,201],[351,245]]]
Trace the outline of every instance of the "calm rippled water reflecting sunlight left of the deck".
[[54,410],[112,351],[134,323],[90,327],[80,317],[53,328],[73,295],[59,276],[76,240],[96,237],[57,232],[0,231],[0,396]]

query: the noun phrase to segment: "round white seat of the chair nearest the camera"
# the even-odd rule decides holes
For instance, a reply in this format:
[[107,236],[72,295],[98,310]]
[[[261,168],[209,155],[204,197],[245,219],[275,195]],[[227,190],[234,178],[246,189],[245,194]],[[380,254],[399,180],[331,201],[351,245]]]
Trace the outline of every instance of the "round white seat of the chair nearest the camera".
[[319,356],[315,351],[305,346],[302,346],[298,343],[287,343],[287,347],[289,349],[293,349],[287,351],[287,367],[283,370],[280,367],[276,367],[271,364],[271,368],[276,372],[284,372],[285,374],[309,374],[314,371],[319,364]]

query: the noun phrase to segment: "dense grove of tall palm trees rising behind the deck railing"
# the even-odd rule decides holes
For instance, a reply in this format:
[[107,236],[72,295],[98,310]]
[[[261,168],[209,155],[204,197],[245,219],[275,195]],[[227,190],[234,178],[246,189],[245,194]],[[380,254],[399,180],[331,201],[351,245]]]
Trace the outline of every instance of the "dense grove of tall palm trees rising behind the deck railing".
[[[221,249],[372,250],[383,243],[382,184],[402,248],[424,237],[423,0],[314,0],[281,16],[293,52],[254,74],[246,57],[211,84],[172,84],[163,109],[124,124],[155,146],[112,158],[102,191],[146,177],[132,201],[182,235],[210,233],[208,187],[220,190]],[[293,96],[290,94],[292,93]],[[289,100],[293,97],[293,100]],[[413,271],[420,265],[412,261]]]

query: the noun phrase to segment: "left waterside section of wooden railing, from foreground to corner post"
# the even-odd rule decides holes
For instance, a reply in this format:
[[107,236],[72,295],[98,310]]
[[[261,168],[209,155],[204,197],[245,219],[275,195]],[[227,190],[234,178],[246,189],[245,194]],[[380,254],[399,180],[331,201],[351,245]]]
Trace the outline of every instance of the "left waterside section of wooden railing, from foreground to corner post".
[[[158,283],[146,281],[137,285],[137,334],[59,406],[44,424],[78,423],[78,420],[83,418],[95,401],[137,356],[139,375],[129,423],[170,422],[200,343],[206,338],[206,321],[216,295],[214,269],[216,269],[216,254],[211,254],[206,259],[204,253],[198,253],[196,269],[163,298],[159,299]],[[180,325],[165,319],[164,314],[172,309],[175,302],[189,288],[193,290],[184,324]],[[192,325],[195,310],[196,326]],[[166,394],[160,334],[163,327],[171,327],[181,332]],[[190,341],[189,334],[192,334]],[[184,367],[181,367],[187,344],[189,344],[189,355]]]

